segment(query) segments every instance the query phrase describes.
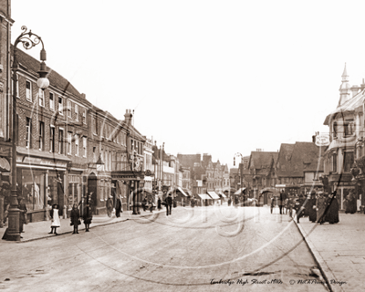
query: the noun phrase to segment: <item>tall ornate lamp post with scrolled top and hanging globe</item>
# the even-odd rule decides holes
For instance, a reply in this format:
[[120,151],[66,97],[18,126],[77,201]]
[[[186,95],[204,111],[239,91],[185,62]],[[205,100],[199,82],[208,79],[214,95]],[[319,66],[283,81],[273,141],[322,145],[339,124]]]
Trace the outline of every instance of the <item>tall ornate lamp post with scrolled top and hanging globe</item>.
[[10,196],[10,208],[9,208],[9,227],[5,233],[5,239],[10,241],[19,241],[20,233],[19,233],[19,215],[20,211],[18,209],[18,201],[17,201],[17,191],[16,191],[16,137],[17,137],[17,119],[16,119],[16,84],[17,84],[17,76],[16,71],[18,67],[17,60],[17,48],[16,46],[19,43],[23,44],[23,47],[26,49],[30,49],[35,47],[39,43],[42,44],[42,49],[40,51],[40,70],[38,71],[39,78],[36,82],[38,88],[44,90],[49,86],[49,80],[47,79],[47,68],[46,68],[46,50],[43,44],[43,41],[40,36],[33,34],[31,30],[27,32],[26,26],[22,26],[21,28],[23,32],[16,38],[13,46],[13,136],[12,136],[12,189]]

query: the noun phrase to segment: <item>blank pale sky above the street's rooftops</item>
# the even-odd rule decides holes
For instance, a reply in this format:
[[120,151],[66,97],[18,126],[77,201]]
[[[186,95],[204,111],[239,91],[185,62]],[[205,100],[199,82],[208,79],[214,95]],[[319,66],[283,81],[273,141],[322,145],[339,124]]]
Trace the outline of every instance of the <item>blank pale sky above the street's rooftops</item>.
[[[12,41],[41,36],[47,66],[165,151],[278,151],[328,132],[347,64],[365,78],[363,1],[17,0]],[[40,47],[27,53],[39,59]]]

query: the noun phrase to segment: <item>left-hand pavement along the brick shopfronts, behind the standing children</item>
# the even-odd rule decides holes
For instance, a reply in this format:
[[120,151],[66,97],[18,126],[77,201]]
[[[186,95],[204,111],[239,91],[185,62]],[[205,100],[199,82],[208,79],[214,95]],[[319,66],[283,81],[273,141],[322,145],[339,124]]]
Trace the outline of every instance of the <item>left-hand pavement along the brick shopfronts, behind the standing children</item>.
[[[177,207],[179,208],[179,207]],[[162,208],[160,211],[153,211],[153,214],[158,213],[165,213],[166,210]],[[117,224],[121,222],[125,222],[127,220],[135,220],[141,217],[150,216],[150,211],[143,211],[141,210],[141,214],[138,215],[132,215],[132,211],[123,211],[122,214],[120,214],[120,217],[117,218],[115,215],[112,217],[108,217],[107,214],[101,214],[101,215],[93,215],[92,222],[90,224],[90,228],[102,226],[102,225],[108,225],[108,224]],[[58,235],[65,235],[65,234],[71,234],[73,232],[73,226],[70,226],[70,219],[60,219],[61,226],[57,228],[57,234]],[[40,221],[40,222],[34,222],[29,224],[24,224],[24,233],[21,234],[23,238],[20,239],[17,243],[25,243],[37,239],[43,239],[47,237],[54,237],[57,235],[49,235],[48,232],[50,232],[51,228],[51,221]],[[5,234],[5,230],[7,228],[7,224],[5,224],[4,228],[0,229],[1,237]],[[85,225],[83,224],[83,221],[81,220],[81,225],[78,225],[78,232],[85,231]],[[2,242],[5,242],[5,240],[0,240],[0,245]]]

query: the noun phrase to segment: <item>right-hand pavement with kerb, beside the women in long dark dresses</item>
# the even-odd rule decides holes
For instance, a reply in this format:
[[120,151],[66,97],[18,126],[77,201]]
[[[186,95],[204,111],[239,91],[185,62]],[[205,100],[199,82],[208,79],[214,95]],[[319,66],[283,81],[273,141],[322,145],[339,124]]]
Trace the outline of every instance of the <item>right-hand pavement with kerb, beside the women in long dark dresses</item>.
[[339,214],[338,224],[296,222],[331,291],[365,291],[364,223],[364,214]]

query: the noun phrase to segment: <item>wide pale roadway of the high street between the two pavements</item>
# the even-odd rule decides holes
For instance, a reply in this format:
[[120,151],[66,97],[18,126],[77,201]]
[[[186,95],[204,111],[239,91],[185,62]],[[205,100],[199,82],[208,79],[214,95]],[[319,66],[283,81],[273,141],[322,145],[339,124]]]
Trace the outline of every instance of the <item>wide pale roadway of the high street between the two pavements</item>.
[[169,217],[155,214],[79,235],[3,241],[0,288],[327,291],[308,246],[288,220],[268,208],[176,208]]

